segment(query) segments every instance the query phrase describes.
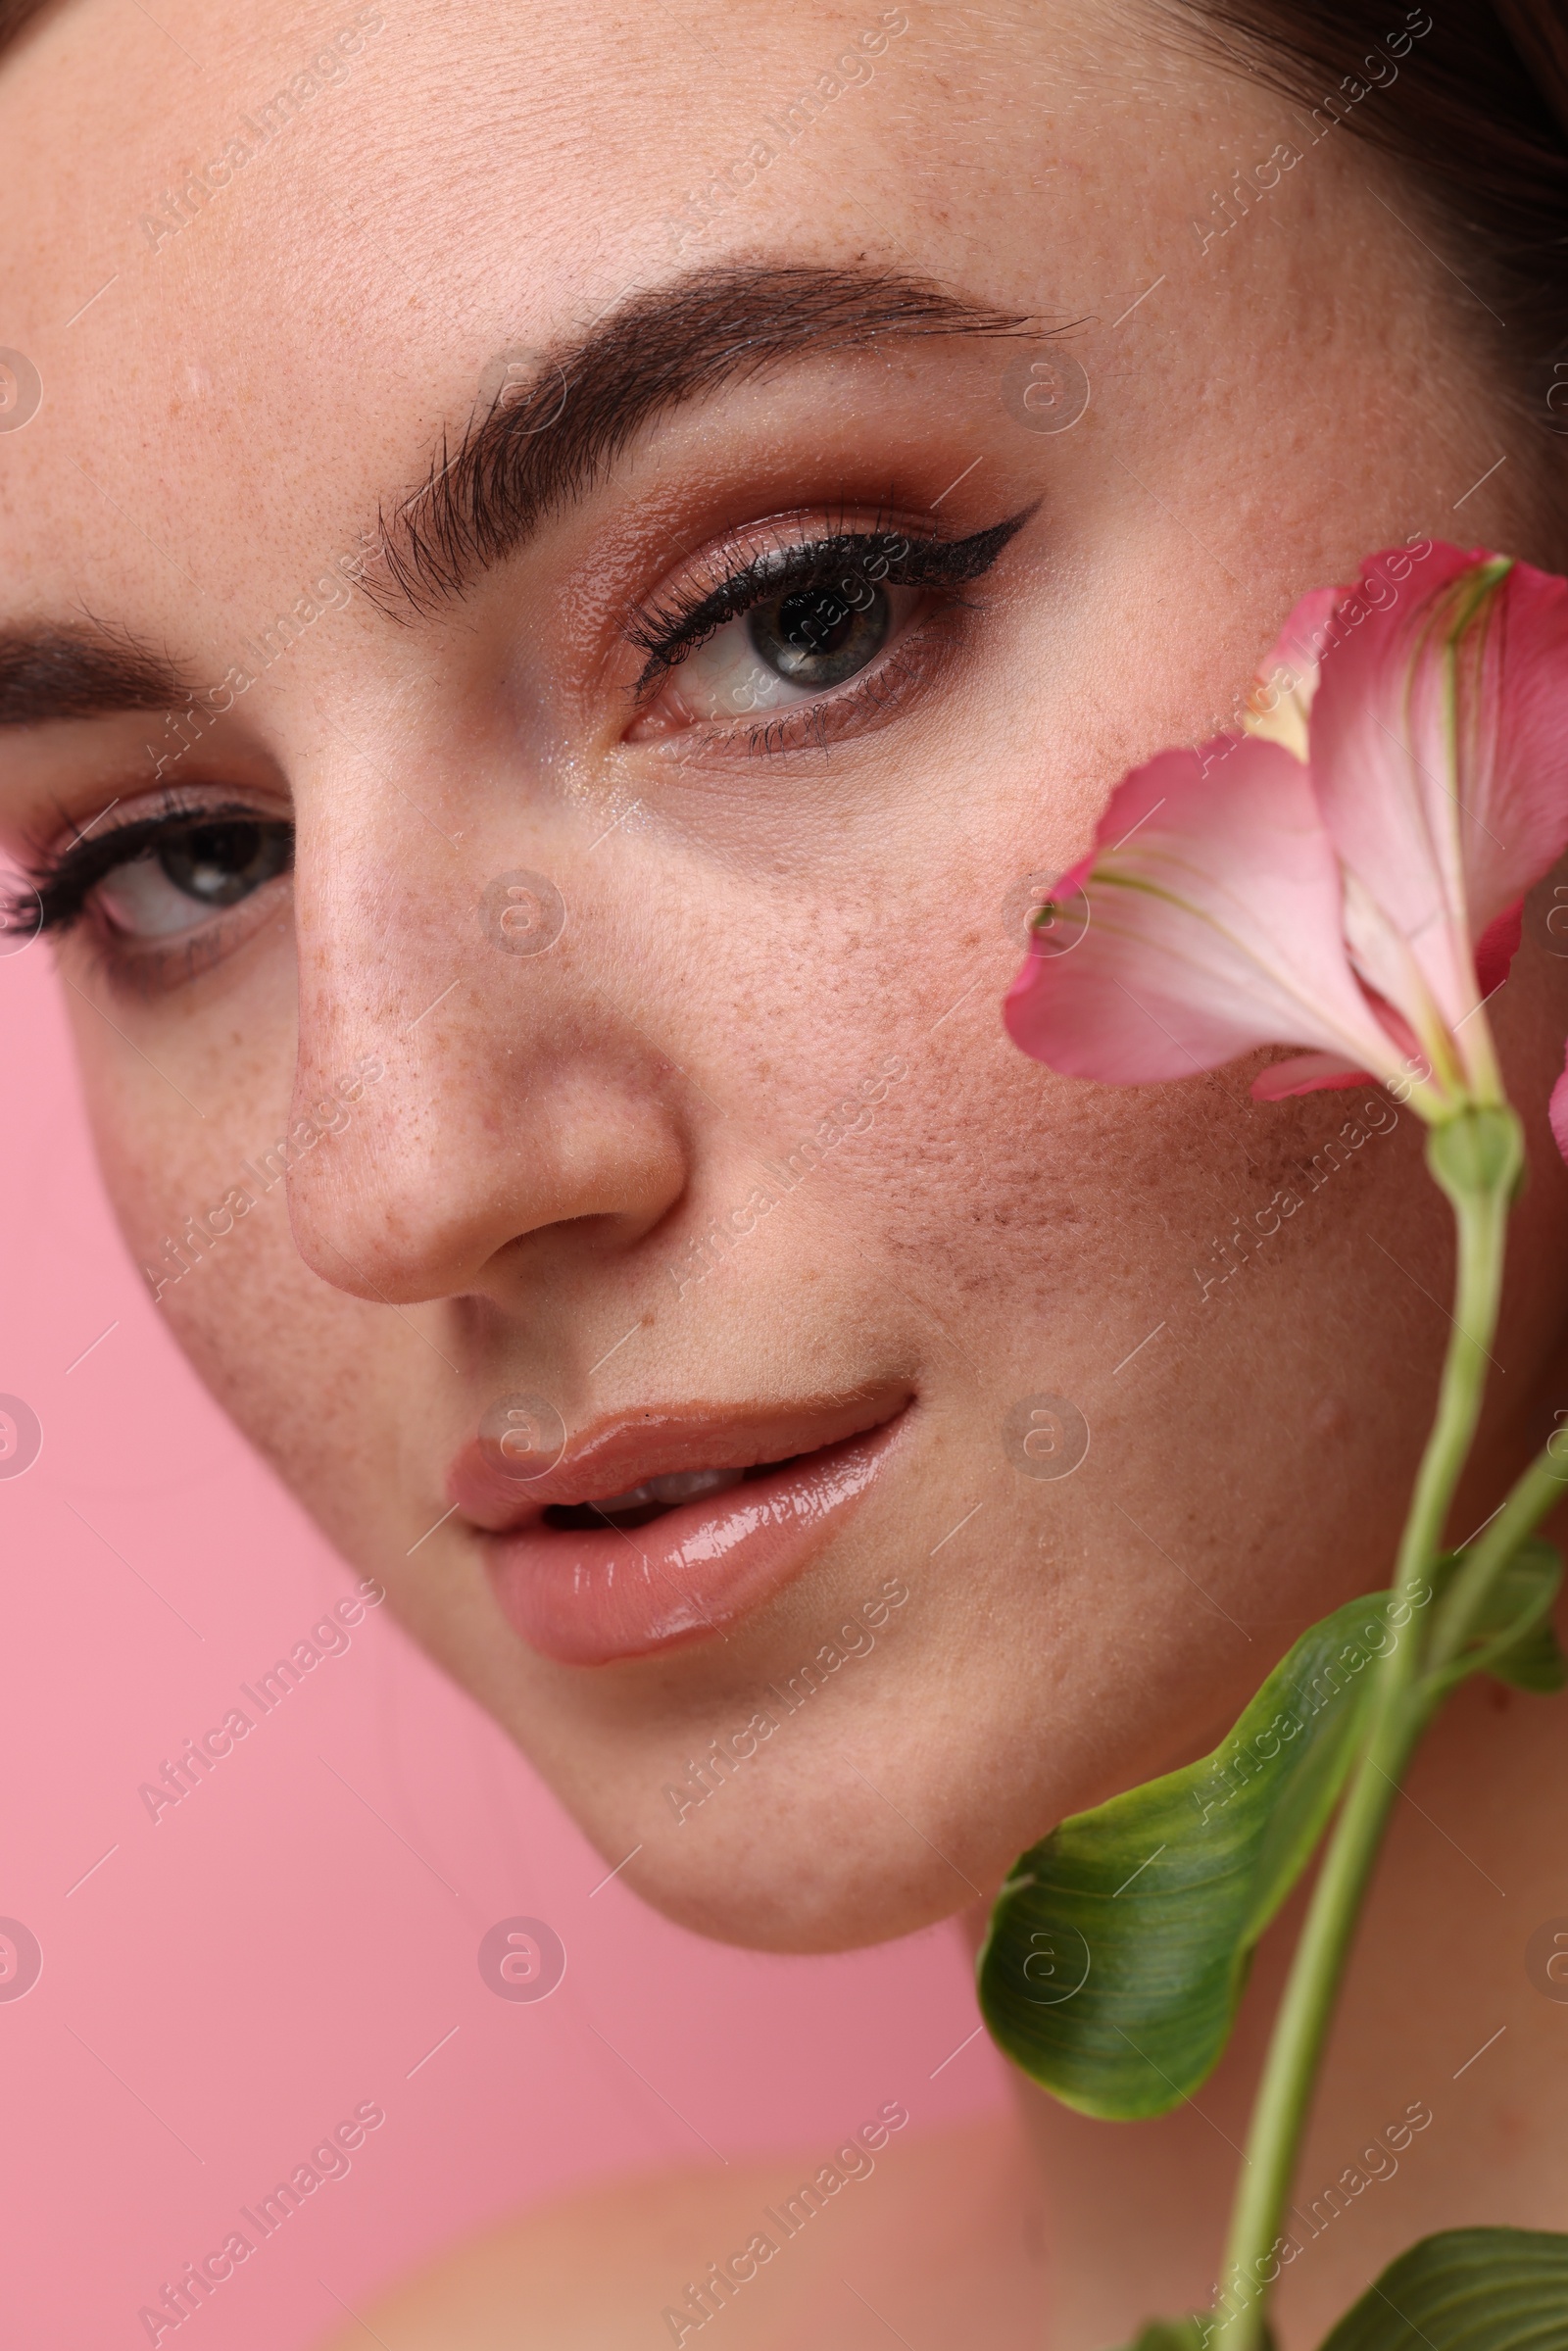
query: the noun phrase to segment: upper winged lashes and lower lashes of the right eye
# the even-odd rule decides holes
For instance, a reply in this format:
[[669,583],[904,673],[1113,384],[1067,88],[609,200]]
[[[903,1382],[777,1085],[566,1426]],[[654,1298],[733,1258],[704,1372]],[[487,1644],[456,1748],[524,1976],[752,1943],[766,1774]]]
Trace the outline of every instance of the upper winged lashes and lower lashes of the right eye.
[[[886,588],[945,588],[950,590],[947,609],[954,609],[961,604],[954,590],[983,578],[1032,513],[1034,505],[1027,505],[1023,513],[1009,515],[1006,522],[971,531],[969,538],[922,538],[891,529],[884,517],[877,517],[865,531],[837,529],[820,538],[780,541],[726,578],[708,588],[677,592],[668,604],[644,607],[637,614],[628,628],[628,639],[649,658],[632,686],[632,698],[639,708],[646,708],[682,661],[689,661],[719,628],[738,621],[757,604],[802,588],[827,585],[835,576],[844,588],[856,578]],[[896,658],[898,647],[893,644],[889,654]],[[870,668],[865,677],[875,677],[884,663]],[[795,705],[790,722],[809,724],[811,712],[818,712],[823,703],[853,703],[858,691],[867,689],[858,679],[851,679],[827,696]],[[783,748],[783,722],[778,717],[769,719],[766,726],[738,731],[757,750]]]

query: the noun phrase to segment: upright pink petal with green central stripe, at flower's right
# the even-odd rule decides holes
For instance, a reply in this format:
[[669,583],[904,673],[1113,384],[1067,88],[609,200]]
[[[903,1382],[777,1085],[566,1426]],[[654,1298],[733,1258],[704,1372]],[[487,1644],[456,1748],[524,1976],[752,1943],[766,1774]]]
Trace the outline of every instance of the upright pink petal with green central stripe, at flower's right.
[[[1324,823],[1450,1030],[1479,1002],[1476,938],[1568,846],[1568,583],[1512,564],[1476,602],[1493,562],[1434,545],[1363,564],[1312,705]],[[1425,1032],[1403,947],[1380,955],[1373,926],[1356,959]]]

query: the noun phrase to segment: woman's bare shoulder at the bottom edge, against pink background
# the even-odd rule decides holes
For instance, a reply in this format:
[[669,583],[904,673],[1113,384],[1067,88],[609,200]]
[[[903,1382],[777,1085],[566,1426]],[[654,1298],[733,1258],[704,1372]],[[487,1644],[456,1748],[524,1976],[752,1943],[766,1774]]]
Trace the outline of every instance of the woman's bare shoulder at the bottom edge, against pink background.
[[[1006,2118],[639,2175],[508,2222],[364,2316],[386,2351],[654,2351],[719,2316],[724,2351],[884,2351],[898,2335],[1037,2351],[1025,2182]],[[322,2351],[367,2339],[353,2325]]]

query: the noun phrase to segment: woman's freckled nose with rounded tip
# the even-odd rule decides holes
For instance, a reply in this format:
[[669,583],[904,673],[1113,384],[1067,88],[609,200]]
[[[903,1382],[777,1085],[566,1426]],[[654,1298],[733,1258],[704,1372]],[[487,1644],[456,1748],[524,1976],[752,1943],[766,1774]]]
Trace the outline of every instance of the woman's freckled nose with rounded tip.
[[689,1133],[609,947],[614,868],[564,891],[487,875],[433,825],[388,839],[386,799],[355,820],[336,783],[296,849],[301,1255],[414,1305],[505,1300],[635,1248],[686,1190]]

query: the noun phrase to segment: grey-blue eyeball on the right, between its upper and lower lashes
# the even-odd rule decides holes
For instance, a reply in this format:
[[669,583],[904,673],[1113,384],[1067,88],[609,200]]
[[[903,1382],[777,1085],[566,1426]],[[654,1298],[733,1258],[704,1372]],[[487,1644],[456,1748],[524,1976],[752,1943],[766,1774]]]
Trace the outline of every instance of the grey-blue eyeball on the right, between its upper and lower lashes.
[[846,576],[790,588],[717,628],[679,668],[672,696],[693,719],[778,710],[846,684],[898,637],[922,595]]

